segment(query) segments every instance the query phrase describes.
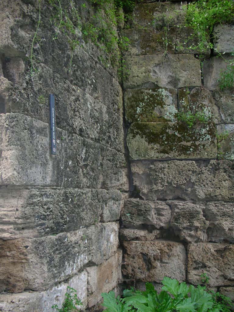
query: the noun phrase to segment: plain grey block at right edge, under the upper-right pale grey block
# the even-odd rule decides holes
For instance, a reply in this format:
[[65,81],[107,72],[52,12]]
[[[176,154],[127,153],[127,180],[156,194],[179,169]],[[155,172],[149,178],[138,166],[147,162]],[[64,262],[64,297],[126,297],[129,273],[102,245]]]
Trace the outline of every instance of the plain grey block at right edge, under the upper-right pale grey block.
[[[225,60],[223,59],[225,58]],[[220,79],[220,74],[227,68],[227,61],[231,60],[229,56],[222,57],[211,57],[209,60],[203,62],[203,78],[204,87],[209,90],[214,90],[218,87]]]

